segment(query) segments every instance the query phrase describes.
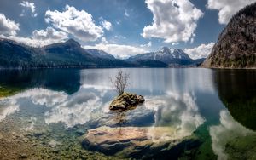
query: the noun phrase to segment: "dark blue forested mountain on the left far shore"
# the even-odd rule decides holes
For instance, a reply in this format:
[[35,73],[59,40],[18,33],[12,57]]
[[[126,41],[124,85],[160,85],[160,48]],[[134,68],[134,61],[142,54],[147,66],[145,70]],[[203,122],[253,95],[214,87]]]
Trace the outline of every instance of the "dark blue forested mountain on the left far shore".
[[135,65],[124,60],[94,56],[73,39],[42,48],[32,48],[12,40],[0,39],[0,68],[131,66]]

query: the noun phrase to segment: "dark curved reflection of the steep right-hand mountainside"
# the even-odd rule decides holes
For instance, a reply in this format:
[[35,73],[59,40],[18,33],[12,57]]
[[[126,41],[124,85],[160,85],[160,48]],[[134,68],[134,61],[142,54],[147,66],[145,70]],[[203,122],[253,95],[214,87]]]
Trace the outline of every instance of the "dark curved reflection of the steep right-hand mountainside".
[[256,71],[217,70],[218,96],[234,119],[248,129],[256,130]]

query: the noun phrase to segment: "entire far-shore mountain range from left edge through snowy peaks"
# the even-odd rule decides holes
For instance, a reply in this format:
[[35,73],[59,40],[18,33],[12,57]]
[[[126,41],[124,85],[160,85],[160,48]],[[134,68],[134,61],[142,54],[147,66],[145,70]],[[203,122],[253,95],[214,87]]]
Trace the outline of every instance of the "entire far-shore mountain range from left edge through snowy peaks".
[[[153,54],[147,58],[148,54]],[[73,39],[34,48],[9,39],[0,39],[0,68],[57,67],[189,67],[198,66],[202,59],[192,60],[182,49],[163,47],[157,52],[137,54],[144,59],[115,59],[103,50],[84,49]]]

